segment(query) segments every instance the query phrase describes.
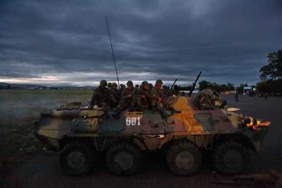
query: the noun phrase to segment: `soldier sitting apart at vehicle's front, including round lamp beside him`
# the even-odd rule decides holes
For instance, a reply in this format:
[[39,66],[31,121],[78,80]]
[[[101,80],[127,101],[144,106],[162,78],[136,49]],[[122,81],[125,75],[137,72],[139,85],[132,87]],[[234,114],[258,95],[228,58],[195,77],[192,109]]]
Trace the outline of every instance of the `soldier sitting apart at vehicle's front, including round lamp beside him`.
[[214,110],[226,105],[226,101],[213,91],[213,83],[208,83],[207,88],[195,96],[194,103],[199,110]]

